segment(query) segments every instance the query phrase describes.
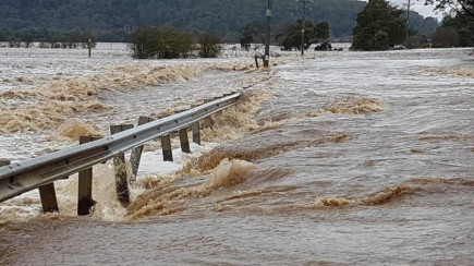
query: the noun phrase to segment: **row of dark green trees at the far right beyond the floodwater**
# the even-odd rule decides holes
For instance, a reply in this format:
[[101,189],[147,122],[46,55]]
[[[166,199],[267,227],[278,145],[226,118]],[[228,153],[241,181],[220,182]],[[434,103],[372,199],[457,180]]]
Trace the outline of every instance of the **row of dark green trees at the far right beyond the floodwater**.
[[[474,3],[467,1],[465,3],[465,9],[446,16],[439,26],[435,19],[424,19],[416,12],[410,12],[411,19],[408,23],[405,11],[390,5],[386,0],[369,0],[364,10],[357,14],[357,25],[353,32],[354,39],[351,49],[388,50],[402,46],[406,48],[473,46]],[[438,5],[437,9],[442,9],[442,7]]]

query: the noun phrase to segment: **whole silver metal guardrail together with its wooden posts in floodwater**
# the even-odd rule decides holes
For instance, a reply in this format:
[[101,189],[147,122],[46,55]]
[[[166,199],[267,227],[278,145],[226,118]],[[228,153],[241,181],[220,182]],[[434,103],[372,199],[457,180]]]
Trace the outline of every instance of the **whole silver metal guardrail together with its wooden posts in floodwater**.
[[[0,202],[22,193],[39,189],[44,211],[58,211],[53,182],[78,172],[77,214],[89,214],[95,202],[92,198],[92,167],[113,158],[118,197],[126,206],[129,181],[137,173],[143,145],[155,138],[161,138],[165,160],[172,160],[170,135],[178,132],[181,149],[190,153],[187,129],[193,129],[193,141],[200,144],[199,121],[209,119],[224,108],[236,104],[239,93],[205,100],[205,104],[156,121],[141,117],[138,125],[112,125],[112,135],[96,140],[81,137],[81,145],[48,154],[22,162],[0,167]],[[124,153],[132,150],[132,174],[125,170]]]

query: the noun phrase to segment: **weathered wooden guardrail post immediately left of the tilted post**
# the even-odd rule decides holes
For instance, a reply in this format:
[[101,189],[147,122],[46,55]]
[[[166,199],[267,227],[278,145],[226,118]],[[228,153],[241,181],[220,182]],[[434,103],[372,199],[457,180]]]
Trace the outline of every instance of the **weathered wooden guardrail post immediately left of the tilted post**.
[[[130,130],[133,124],[119,124],[110,125],[110,133],[117,134],[119,132]],[[122,153],[113,157],[113,168],[116,172],[116,190],[117,196],[124,207],[130,204],[129,182],[125,166],[125,155]]]

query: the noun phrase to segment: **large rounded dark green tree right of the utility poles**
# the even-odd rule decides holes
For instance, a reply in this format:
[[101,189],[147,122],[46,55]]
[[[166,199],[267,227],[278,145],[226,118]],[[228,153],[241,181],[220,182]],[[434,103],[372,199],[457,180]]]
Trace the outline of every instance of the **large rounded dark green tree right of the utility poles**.
[[387,50],[405,39],[406,21],[385,0],[369,0],[357,15],[353,50]]

